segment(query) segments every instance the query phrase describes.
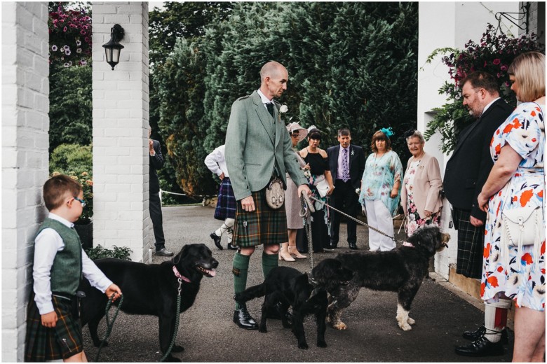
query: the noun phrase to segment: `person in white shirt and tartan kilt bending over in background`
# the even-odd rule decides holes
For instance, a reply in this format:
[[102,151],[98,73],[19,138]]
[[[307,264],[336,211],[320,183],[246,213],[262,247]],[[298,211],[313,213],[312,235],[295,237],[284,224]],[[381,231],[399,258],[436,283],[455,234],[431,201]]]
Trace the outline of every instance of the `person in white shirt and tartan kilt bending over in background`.
[[220,238],[224,232],[228,235],[228,248],[236,250],[236,246],[231,244],[234,230],[234,221],[236,218],[236,197],[234,190],[231,188],[230,176],[226,167],[226,158],[224,157],[224,144],[205,157],[205,165],[214,174],[220,178],[220,187],[218,189],[217,207],[215,208],[215,218],[222,220],[224,223],[220,228],[210,233],[212,241],[215,242],[217,248],[222,250]]

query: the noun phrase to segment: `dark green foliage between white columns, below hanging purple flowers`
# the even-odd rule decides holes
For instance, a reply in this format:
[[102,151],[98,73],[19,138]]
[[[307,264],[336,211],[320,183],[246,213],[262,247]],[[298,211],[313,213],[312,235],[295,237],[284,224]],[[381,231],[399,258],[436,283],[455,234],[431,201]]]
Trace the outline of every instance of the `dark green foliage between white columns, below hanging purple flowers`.
[[60,144],[91,144],[91,67],[50,66],[50,153]]

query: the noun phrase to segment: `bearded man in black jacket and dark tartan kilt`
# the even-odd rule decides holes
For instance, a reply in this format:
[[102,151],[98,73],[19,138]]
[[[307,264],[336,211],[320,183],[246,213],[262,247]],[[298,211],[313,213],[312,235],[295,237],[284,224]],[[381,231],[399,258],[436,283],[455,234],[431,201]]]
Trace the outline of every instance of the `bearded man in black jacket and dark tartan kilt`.
[[[482,71],[470,73],[464,80],[461,94],[464,106],[477,120],[459,134],[458,142],[445,170],[445,194],[452,204],[452,220],[458,230],[458,256],[456,272],[469,278],[480,279],[482,274],[482,248],[485,239],[486,214],[480,211],[477,197],[494,165],[490,156],[490,141],[499,125],[513,109],[499,98],[496,79]],[[506,302],[503,302],[506,301]],[[464,356],[501,355],[504,352],[501,331],[504,326],[494,324],[496,315],[506,312],[496,310],[511,307],[511,301],[500,300],[497,306],[486,304],[485,326],[464,332],[466,339],[474,340],[459,346],[456,353]]]

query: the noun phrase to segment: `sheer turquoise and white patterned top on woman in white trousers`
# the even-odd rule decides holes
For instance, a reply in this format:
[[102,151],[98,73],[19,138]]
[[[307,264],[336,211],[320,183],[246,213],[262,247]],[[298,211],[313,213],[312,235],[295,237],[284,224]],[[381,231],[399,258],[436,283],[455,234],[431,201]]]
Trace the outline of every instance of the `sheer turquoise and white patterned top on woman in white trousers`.
[[396,181],[403,179],[403,165],[394,151],[388,151],[377,158],[376,153],[368,156],[365,172],[361,183],[363,188],[359,195],[359,202],[365,206],[365,200],[381,200],[386,205],[391,216],[395,216],[400,201],[400,187],[398,195],[391,198],[391,190]]

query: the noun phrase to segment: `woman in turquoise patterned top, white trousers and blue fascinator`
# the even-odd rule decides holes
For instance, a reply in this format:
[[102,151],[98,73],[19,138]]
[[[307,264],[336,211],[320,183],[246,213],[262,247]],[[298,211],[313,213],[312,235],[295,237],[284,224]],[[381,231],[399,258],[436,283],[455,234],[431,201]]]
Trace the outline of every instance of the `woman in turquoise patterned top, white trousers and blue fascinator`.
[[[403,165],[397,153],[391,151],[391,135],[390,127],[372,136],[370,148],[374,153],[365,163],[359,202],[367,211],[368,225],[393,237],[392,218],[399,205]],[[368,245],[371,251],[389,251],[395,248],[395,241],[369,229]]]

